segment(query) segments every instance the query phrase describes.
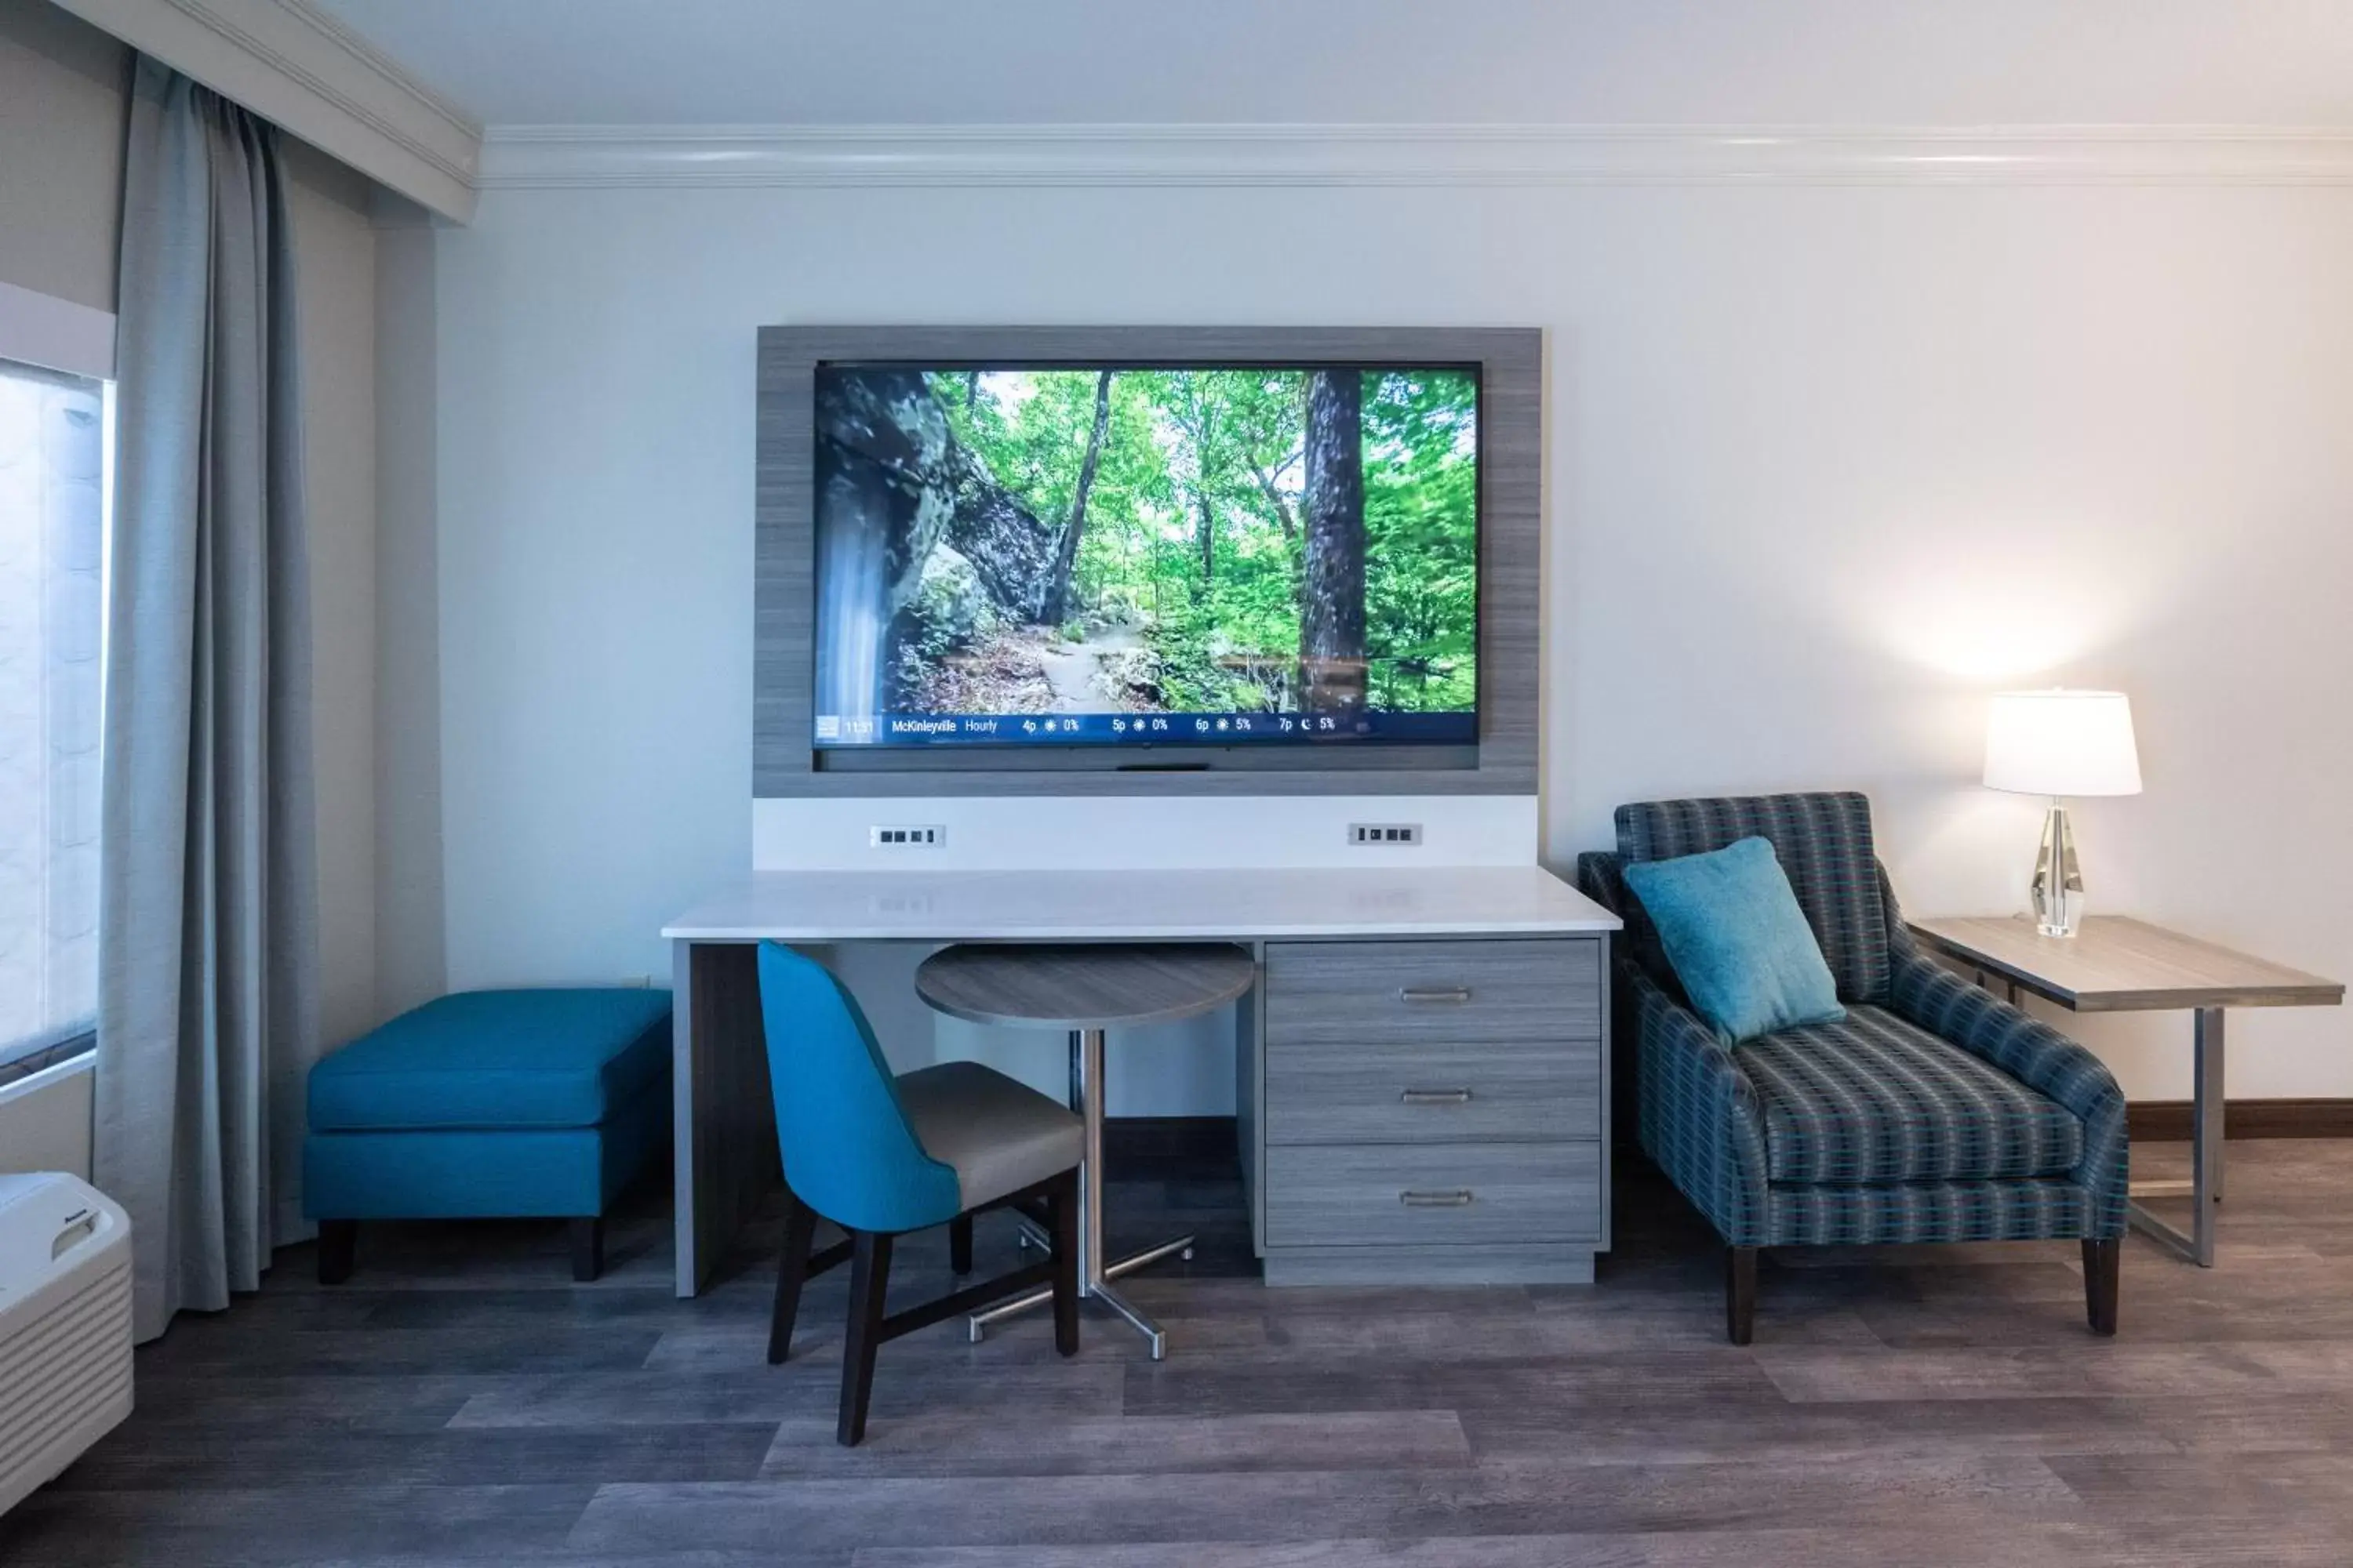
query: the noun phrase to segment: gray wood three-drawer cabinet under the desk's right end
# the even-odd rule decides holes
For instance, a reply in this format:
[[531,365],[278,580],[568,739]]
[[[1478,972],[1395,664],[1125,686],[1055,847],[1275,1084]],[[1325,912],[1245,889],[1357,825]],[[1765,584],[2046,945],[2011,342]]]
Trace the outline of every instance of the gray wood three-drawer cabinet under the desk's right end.
[[1235,1095],[1266,1284],[1593,1279],[1605,940],[1266,943]]

